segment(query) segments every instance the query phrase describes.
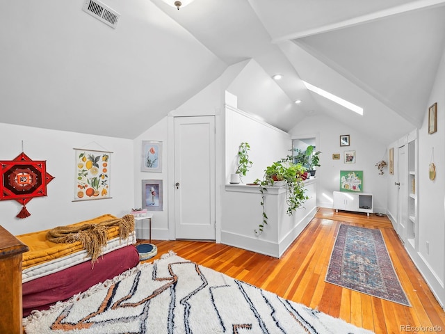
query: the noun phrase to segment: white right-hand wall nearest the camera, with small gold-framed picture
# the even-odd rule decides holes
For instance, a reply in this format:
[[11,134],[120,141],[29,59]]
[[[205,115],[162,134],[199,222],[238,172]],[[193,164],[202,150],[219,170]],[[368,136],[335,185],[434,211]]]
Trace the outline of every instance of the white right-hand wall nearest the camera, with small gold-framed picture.
[[[423,125],[419,129],[419,257],[430,270],[428,280],[436,281],[435,293],[445,304],[445,52],[437,70],[430,100],[425,108]],[[437,132],[428,134],[428,107],[437,102]],[[434,148],[436,178],[428,177],[428,167]],[[429,243],[429,252],[426,243]]]

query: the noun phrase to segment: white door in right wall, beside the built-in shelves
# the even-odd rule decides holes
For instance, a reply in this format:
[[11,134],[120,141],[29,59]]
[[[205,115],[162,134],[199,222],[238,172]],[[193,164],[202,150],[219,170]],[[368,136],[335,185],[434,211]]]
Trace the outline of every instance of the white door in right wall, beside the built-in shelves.
[[406,145],[398,148],[397,233],[405,242],[407,226],[407,154]]

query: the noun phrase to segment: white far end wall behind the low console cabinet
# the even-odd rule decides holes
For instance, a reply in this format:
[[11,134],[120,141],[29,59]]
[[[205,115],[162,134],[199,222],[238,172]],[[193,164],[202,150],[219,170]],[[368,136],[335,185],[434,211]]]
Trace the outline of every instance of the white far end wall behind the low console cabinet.
[[[386,145],[325,116],[304,118],[289,133],[293,136],[318,136],[316,150],[321,151],[321,167],[317,167],[316,172],[318,206],[332,207],[332,192],[340,189],[340,170],[363,170],[363,190],[374,196],[373,212],[386,212],[388,168],[385,168],[385,174],[379,175],[375,167],[382,159],[388,162]],[[343,134],[350,135],[350,146],[340,146]],[[344,152],[349,150],[355,151],[355,164],[344,163]],[[333,160],[333,153],[339,153],[340,159]]]

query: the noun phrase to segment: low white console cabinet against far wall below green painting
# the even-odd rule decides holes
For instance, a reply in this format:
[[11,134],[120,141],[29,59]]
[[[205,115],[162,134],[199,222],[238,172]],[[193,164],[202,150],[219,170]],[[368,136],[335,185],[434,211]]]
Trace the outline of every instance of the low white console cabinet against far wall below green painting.
[[334,191],[334,209],[336,212],[339,212],[339,210],[366,212],[369,216],[373,212],[373,205],[372,193]]

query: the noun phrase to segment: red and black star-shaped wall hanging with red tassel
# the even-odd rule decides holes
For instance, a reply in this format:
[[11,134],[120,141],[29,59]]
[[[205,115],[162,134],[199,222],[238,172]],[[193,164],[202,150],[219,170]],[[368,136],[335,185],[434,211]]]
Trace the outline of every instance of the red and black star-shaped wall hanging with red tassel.
[[17,218],[31,216],[26,204],[35,197],[47,196],[47,184],[54,179],[47,173],[47,161],[31,160],[22,152],[13,160],[0,161],[0,171],[0,200],[17,200],[22,205]]

